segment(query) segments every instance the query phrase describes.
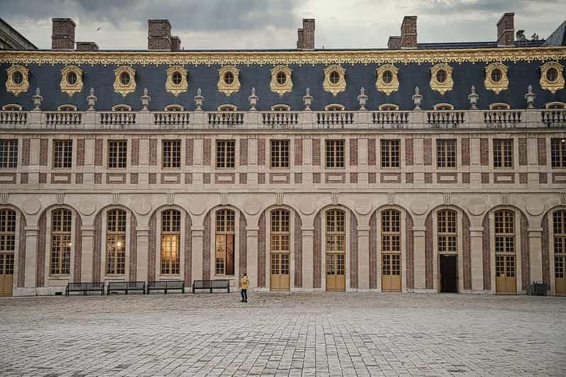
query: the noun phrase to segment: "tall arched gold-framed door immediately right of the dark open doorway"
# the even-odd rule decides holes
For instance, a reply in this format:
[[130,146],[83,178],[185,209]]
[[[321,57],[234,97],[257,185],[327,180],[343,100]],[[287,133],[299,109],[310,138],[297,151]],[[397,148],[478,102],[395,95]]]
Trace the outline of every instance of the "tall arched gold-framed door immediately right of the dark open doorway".
[[495,286],[498,293],[516,293],[515,214],[501,209],[494,214]]

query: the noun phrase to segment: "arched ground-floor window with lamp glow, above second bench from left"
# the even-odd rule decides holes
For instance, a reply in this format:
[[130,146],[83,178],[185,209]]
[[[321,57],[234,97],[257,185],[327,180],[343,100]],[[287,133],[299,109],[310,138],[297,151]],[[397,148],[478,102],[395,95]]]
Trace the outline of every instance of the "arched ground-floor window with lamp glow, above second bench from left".
[[111,209],[106,214],[106,273],[126,273],[126,211]]

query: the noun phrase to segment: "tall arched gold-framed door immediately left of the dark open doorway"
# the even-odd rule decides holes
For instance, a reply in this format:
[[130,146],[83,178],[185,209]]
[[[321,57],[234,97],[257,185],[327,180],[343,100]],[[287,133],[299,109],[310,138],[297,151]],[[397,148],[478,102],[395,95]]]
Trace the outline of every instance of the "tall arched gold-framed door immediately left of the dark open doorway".
[[382,212],[382,290],[401,290],[401,212]]

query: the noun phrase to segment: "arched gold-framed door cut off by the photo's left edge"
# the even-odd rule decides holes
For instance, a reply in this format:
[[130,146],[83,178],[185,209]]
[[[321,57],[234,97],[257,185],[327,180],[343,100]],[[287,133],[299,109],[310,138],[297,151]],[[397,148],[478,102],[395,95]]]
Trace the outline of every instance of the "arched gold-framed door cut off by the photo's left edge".
[[0,286],[0,295],[12,294],[15,251],[16,212],[11,209],[0,209],[0,283],[4,283]]

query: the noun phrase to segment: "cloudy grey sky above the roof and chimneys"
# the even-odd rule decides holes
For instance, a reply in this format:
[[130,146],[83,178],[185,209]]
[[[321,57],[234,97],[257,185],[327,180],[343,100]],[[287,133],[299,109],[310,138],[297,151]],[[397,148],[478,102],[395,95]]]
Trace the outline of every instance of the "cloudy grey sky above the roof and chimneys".
[[[145,49],[148,18],[167,18],[186,49],[294,48],[302,18],[316,18],[316,48],[387,46],[404,15],[418,16],[419,42],[496,39],[515,29],[548,37],[565,21],[564,0],[0,0],[1,18],[38,48],[51,47],[51,18],[70,17],[79,41],[101,49]],[[96,31],[100,28],[100,31]]]

